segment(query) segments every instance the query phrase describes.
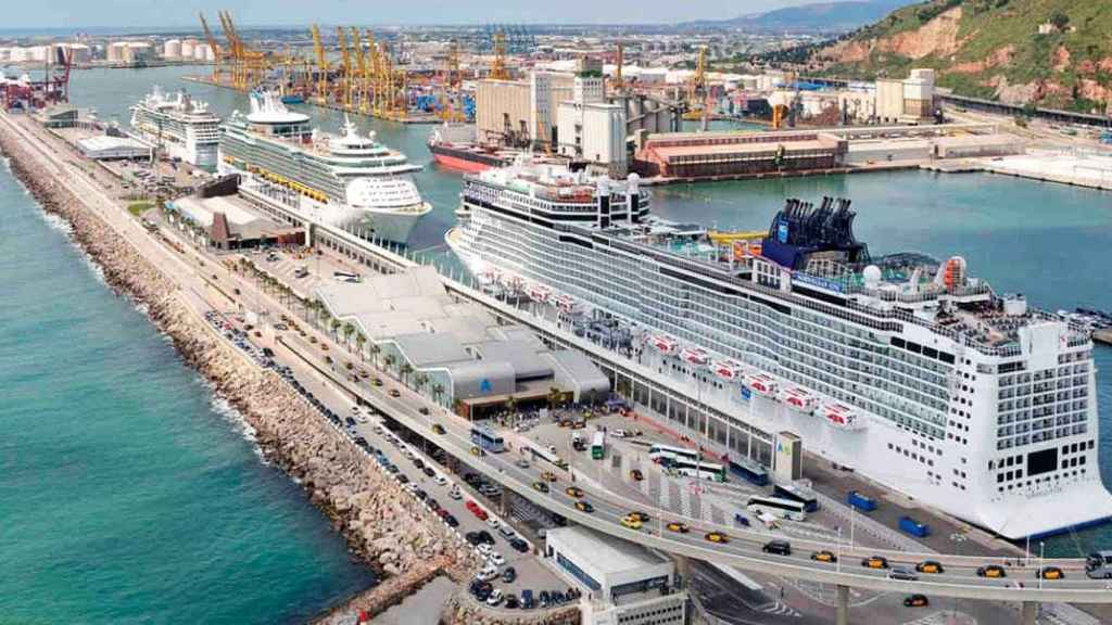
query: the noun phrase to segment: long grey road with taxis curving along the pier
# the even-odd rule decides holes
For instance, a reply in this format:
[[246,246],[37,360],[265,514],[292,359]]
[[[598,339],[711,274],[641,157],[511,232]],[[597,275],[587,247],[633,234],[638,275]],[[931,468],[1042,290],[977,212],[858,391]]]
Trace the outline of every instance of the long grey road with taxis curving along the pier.
[[[127,238],[145,254],[165,255],[173,258],[171,262],[181,262],[181,259],[169,252],[156,239],[143,231],[131,220],[131,228],[123,226],[125,219],[130,219],[126,215],[123,207],[119,206],[103,195],[99,185],[85,180],[85,175],[75,171],[75,168],[66,162],[51,146],[43,142],[26,129],[19,128],[11,122],[7,116],[0,113],[0,120],[14,128],[16,132],[23,136],[24,141],[37,149],[39,157],[53,165],[59,172],[63,183],[70,186],[79,197],[86,198],[89,204],[97,204],[95,210],[100,214],[106,221],[118,227],[121,231],[128,232]],[[190,268],[190,272],[192,272]],[[248,282],[244,282],[248,287]],[[294,311],[281,306],[277,300],[269,298],[266,294],[261,297],[269,299],[270,306],[275,309],[286,310],[294,316]],[[319,335],[324,336],[324,335]],[[289,335],[287,335],[289,338]],[[308,344],[297,345],[296,340],[290,341],[298,349],[301,357],[318,367],[324,366],[320,354]],[[335,345],[332,354],[342,354],[341,346]],[[1048,566],[1059,566],[1065,572],[1065,578],[1059,581],[1040,581],[1034,577],[1034,569],[1015,568],[1007,569],[1007,577],[1003,579],[987,579],[979,577],[976,567],[984,564],[1001,564],[1000,560],[992,563],[985,558],[954,556],[954,555],[915,555],[902,552],[884,552],[880,549],[853,549],[838,548],[836,545],[827,543],[815,543],[810,540],[793,539],[793,553],[791,556],[778,556],[765,554],[761,547],[772,535],[759,530],[741,530],[736,527],[714,526],[702,519],[683,518],[682,516],[665,510],[663,515],[652,508],[646,509],[644,504],[632,502],[614,493],[593,493],[589,487],[584,487],[582,483],[577,486],[586,490],[585,499],[594,506],[593,513],[585,513],[576,509],[574,497],[565,493],[569,486],[570,476],[567,472],[556,469],[552,466],[540,466],[532,464],[528,468],[516,466],[519,458],[514,453],[488,454],[475,456],[470,453],[471,443],[469,438],[469,424],[463,419],[449,415],[441,408],[426,400],[423,396],[405,388],[400,384],[388,380],[383,387],[371,385],[351,385],[348,383],[337,383],[342,390],[351,396],[358,397],[361,401],[374,406],[381,413],[434,442],[444,448],[448,454],[457,457],[475,470],[486,475],[490,480],[500,483],[505,488],[515,492],[517,495],[533,502],[546,509],[559,513],[567,519],[606,533],[608,535],[637,542],[639,544],[658,548],[665,552],[681,554],[684,556],[716,562],[721,564],[736,566],[741,569],[761,571],[764,573],[781,575],[790,578],[802,578],[814,582],[834,584],[837,586],[855,586],[876,591],[891,591],[898,593],[923,593],[931,596],[964,597],[987,601],[1011,601],[1011,602],[1065,602],[1065,603],[1112,603],[1112,592],[1109,591],[1104,581],[1093,581],[1084,576],[1082,571],[1083,562],[1073,559],[1048,559]],[[391,397],[388,391],[397,389],[399,396]],[[419,408],[425,407],[430,413],[424,415]],[[439,423],[447,428],[446,434],[437,435],[433,431],[433,425]],[[509,438],[507,436],[507,438]],[[515,446],[516,447],[516,446]],[[558,480],[549,484],[547,494],[536,490],[533,486],[539,479],[542,472],[552,470],[558,476]],[[652,522],[642,529],[629,529],[622,525],[620,519],[631,510],[639,509],[653,516]],[[691,527],[687,534],[669,532],[665,525],[671,520],[686,523]],[[729,542],[725,544],[713,544],[704,538],[709,530],[718,530],[729,536]],[[778,537],[778,536],[777,536]],[[811,559],[811,554],[818,549],[841,550],[841,558],[837,563],[820,563]],[[864,568],[860,559],[868,555],[883,555],[893,565],[901,565],[913,568],[922,559],[930,557],[941,562],[945,566],[945,573],[939,575],[920,574],[919,581],[896,581],[887,578],[886,571]],[[1019,587],[1017,583],[1022,583]],[[1026,611],[1024,611],[1026,613]]]

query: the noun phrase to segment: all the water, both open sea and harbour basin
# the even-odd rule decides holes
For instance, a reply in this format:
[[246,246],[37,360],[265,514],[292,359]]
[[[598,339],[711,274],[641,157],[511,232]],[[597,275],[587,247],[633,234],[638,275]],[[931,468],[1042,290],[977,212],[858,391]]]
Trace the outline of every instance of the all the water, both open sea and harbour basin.
[[[85,70],[71,99],[126,126],[152,86],[220,115],[240,93],[200,68]],[[301,107],[338,128],[342,113]],[[357,118],[425,165],[434,210],[410,249],[451,262],[459,175],[429,126]],[[874,256],[963,256],[1035,306],[1112,310],[1112,195],[980,173],[921,171],[694,183],[653,190],[664,217],[767,229],[785,198],[853,200]],[[374,584],[299,488],[260,457],[235,411],[131,302],[113,296],[64,227],[0,168],[0,623],[295,623]],[[1112,349],[1098,347],[1101,472],[1112,484]],[[1052,537],[1048,555],[1112,548],[1112,525]]]

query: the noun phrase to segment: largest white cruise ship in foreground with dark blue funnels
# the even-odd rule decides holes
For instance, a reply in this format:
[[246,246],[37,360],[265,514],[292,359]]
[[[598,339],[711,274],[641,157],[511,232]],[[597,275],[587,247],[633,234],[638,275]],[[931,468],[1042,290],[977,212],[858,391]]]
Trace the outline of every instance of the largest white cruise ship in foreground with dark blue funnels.
[[624,320],[631,358],[692,401],[620,367],[615,387],[734,464],[771,459],[747,433],[791,431],[1009,538],[1112,516],[1090,336],[997,295],[960,257],[872,258],[847,200],[788,200],[767,235],[723,244],[652,216],[636,176],[519,161],[466,176],[461,197],[446,240],[480,281],[554,304],[564,323]]

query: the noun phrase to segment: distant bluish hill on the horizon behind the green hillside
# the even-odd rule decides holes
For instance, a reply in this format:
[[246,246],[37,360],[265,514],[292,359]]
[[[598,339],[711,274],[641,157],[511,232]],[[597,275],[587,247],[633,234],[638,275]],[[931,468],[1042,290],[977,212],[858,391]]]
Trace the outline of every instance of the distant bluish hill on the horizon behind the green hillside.
[[726,28],[753,32],[847,32],[872,23],[893,9],[916,0],[847,0],[785,7],[728,20],[702,20],[679,24],[688,28]]

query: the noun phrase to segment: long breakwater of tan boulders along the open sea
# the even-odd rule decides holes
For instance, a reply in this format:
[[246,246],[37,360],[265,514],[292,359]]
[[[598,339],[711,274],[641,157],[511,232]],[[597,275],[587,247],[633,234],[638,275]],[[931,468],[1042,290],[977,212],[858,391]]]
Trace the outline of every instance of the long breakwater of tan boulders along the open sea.
[[346,608],[371,614],[400,601],[436,573],[459,582],[474,553],[399,484],[378,470],[272,371],[262,370],[221,340],[178,297],[178,286],[82,205],[0,123],[0,151],[31,195],[68,221],[73,239],[97,262],[106,282],[142,305],[181,356],[244,416],[266,457],[304,486],[348,544],[384,582]]

